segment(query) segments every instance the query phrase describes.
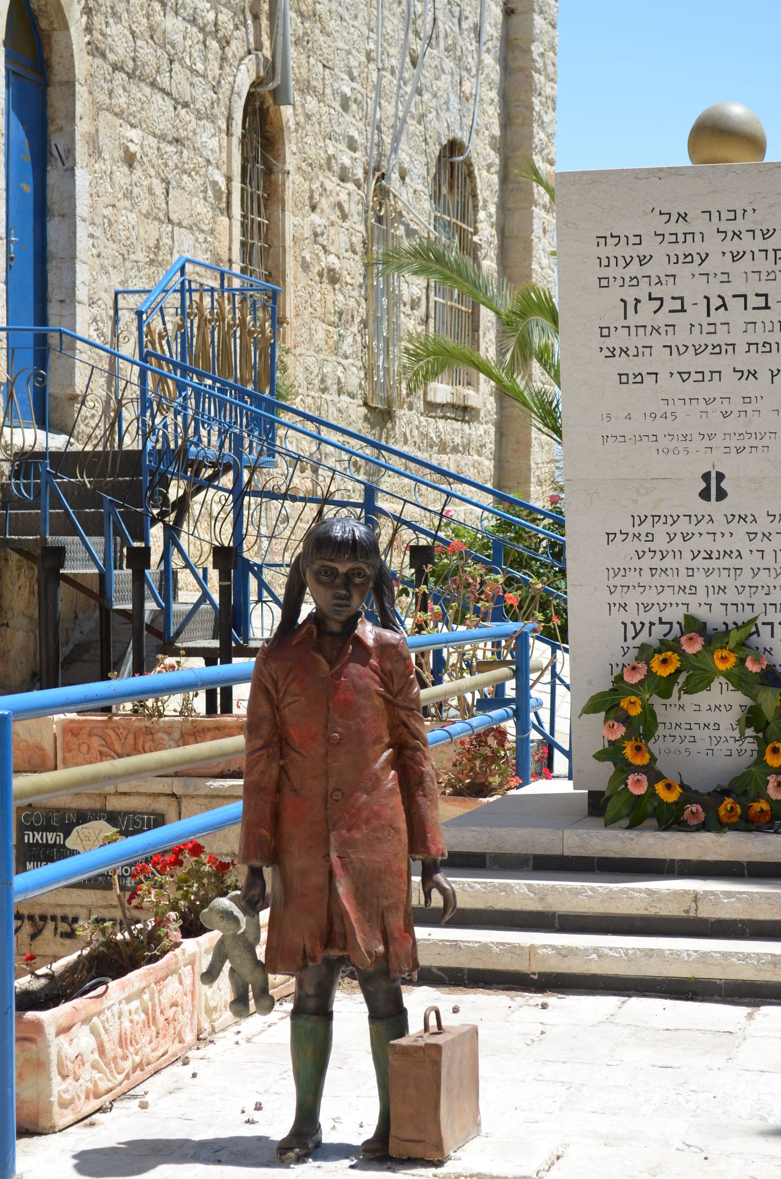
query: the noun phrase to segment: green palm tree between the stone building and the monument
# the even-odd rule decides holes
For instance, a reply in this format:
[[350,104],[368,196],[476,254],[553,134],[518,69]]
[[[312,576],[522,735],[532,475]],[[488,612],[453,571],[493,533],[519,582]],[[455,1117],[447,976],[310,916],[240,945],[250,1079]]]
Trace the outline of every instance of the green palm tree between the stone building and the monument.
[[[553,185],[533,162],[527,160],[520,174],[554,200]],[[441,332],[408,336],[401,349],[401,376],[411,393],[437,381],[448,369],[473,369],[512,397],[540,434],[560,443],[559,317],[551,291],[537,283],[513,290],[458,246],[433,238],[394,245],[373,258],[372,264],[382,276],[412,275],[449,286],[486,308],[498,321],[495,360]],[[536,367],[547,380],[537,378]]]

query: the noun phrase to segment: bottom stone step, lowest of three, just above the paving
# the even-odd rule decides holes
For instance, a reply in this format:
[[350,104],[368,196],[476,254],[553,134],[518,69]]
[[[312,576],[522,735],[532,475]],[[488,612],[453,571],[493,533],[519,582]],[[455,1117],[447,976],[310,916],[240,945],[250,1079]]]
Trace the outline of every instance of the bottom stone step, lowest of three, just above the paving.
[[781,944],[418,927],[420,982],[781,1000]]

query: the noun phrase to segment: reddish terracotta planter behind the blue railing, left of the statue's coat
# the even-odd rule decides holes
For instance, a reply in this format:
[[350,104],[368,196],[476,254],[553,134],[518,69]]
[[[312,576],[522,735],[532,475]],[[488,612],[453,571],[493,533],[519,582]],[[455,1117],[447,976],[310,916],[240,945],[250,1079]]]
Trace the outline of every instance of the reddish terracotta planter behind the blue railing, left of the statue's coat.
[[[221,737],[241,737],[243,732],[243,716],[157,718],[118,713],[65,717],[57,723],[57,762],[59,769],[92,765],[93,762],[153,753]],[[238,757],[179,770],[176,777],[241,778],[243,772],[244,759]]]

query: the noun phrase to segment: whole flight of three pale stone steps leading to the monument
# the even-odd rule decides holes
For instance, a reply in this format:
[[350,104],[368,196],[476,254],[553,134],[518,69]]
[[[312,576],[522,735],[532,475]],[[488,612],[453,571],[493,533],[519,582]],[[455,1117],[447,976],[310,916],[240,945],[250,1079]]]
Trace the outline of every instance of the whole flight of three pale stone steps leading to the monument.
[[781,836],[626,831],[538,784],[445,824],[451,922],[413,891],[438,986],[781,1000]]

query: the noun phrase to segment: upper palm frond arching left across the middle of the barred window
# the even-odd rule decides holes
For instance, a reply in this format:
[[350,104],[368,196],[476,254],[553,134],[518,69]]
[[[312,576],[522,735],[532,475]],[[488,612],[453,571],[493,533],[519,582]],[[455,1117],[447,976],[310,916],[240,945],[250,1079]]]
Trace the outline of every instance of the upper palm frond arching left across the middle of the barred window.
[[511,302],[510,288],[498,281],[468,253],[420,237],[382,250],[369,259],[378,275],[414,275],[428,282],[452,286],[466,298],[474,299],[495,316],[501,317]]

